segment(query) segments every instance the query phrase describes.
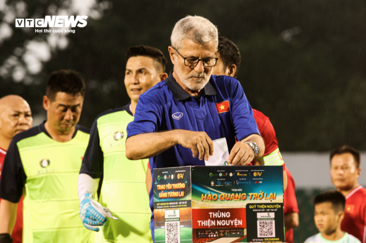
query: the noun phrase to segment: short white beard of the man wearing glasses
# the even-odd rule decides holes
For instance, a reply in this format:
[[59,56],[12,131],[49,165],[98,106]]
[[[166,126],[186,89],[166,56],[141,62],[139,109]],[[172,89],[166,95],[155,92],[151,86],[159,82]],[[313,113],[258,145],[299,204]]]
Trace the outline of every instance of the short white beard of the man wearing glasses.
[[[178,60],[175,59],[175,62],[177,63]],[[201,90],[208,83],[209,78],[211,77],[211,75],[206,75],[206,73],[197,73],[194,70],[192,70],[190,74],[185,75],[179,65],[174,65],[174,71],[178,75],[180,81],[191,90]]]

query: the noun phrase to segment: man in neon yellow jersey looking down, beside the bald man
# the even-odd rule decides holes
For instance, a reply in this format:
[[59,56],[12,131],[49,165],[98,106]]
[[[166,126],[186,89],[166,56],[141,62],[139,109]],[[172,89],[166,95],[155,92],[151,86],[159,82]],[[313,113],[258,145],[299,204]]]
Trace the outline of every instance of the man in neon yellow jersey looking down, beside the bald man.
[[85,83],[75,71],[53,72],[43,107],[47,121],[17,134],[0,183],[0,242],[12,242],[16,205],[23,195],[23,242],[94,242],[78,219],[77,179],[89,141],[79,121]]

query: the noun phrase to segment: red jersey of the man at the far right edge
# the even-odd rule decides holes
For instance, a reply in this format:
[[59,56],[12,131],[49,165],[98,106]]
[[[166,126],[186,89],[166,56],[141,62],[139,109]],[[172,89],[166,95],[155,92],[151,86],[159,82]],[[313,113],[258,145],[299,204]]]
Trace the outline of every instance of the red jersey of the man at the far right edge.
[[366,243],[366,189],[358,186],[346,196],[341,229]]

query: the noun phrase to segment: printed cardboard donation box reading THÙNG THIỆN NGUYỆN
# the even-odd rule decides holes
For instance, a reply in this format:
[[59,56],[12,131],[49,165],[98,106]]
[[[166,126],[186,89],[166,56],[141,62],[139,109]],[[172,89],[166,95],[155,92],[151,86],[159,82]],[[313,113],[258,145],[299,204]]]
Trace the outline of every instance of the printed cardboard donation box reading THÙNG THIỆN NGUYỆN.
[[282,166],[154,169],[155,242],[285,242]]

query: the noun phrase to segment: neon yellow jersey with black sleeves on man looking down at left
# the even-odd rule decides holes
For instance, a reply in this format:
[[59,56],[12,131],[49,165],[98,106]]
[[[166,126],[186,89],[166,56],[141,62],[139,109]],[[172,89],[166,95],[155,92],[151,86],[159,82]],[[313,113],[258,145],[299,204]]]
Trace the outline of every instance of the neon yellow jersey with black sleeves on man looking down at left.
[[[4,161],[0,197],[23,194],[23,242],[94,242],[79,218],[77,180],[89,131],[75,127],[72,140],[53,140],[44,124],[16,135]],[[9,155],[9,156],[8,156]]]

